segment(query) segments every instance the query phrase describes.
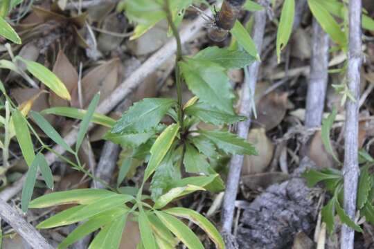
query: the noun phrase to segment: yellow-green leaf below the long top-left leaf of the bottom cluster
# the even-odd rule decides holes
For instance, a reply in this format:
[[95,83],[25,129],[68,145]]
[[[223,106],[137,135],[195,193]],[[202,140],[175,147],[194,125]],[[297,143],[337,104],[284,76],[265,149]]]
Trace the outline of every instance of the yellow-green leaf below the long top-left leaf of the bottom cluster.
[[59,212],[58,214],[55,214],[51,216],[50,218],[46,219],[45,221],[42,221],[41,223],[37,224],[37,229],[46,229],[46,228],[56,228],[58,226],[62,225],[69,225],[71,223],[75,223],[80,221],[79,217],[75,217],[76,220],[69,219],[70,216],[75,214],[75,212],[78,212],[84,208],[84,205],[78,205],[73,208],[69,208],[67,210],[64,210],[62,212]]

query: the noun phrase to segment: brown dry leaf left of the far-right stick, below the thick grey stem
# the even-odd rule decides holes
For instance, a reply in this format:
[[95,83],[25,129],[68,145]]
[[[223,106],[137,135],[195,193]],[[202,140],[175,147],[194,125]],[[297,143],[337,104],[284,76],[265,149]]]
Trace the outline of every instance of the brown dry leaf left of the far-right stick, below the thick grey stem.
[[307,155],[319,168],[335,167],[335,160],[323,146],[321,131],[314,133],[308,145]]

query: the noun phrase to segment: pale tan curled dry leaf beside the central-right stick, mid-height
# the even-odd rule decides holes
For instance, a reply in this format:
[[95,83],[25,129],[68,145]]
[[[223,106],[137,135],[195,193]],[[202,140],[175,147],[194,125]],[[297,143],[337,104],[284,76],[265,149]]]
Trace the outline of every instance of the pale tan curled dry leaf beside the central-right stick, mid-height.
[[256,147],[258,156],[244,156],[242,174],[256,174],[265,172],[274,154],[274,145],[266,136],[264,128],[251,129],[248,142]]

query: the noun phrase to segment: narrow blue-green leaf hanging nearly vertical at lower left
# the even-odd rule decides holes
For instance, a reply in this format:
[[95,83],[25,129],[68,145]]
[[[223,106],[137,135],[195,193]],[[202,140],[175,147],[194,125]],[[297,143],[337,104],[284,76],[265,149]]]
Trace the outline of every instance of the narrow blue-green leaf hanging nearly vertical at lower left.
[[28,206],[31,200],[31,196],[33,195],[35,181],[37,177],[37,166],[38,165],[39,165],[39,156],[35,156],[30,167],[28,167],[24,187],[22,187],[21,208],[22,208],[22,212],[24,213],[27,212]]

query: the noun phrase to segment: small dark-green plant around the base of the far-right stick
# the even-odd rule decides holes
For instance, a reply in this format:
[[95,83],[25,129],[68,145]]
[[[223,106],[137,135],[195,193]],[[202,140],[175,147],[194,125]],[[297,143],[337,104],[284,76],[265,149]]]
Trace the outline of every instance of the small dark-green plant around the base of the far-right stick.
[[[334,123],[337,111],[334,109],[330,115],[323,120],[322,123],[322,141],[323,145],[332,156],[341,164],[335,156],[330,144],[330,130]],[[373,166],[374,158],[372,158],[366,151],[359,151],[359,163],[360,175],[359,183],[357,188],[357,210],[359,215],[365,217],[366,221],[374,225],[374,177],[373,177]],[[308,169],[303,173],[303,177],[306,178],[308,186],[312,187],[317,183],[322,183],[323,187],[331,194],[331,199],[322,208],[322,221],[326,223],[328,232],[332,232],[335,227],[335,215],[339,216],[342,223],[350,226],[357,232],[362,232],[362,228],[352,221],[349,216],[344,212],[341,203],[343,202],[343,174],[337,169],[321,169],[319,171],[315,169]]]

